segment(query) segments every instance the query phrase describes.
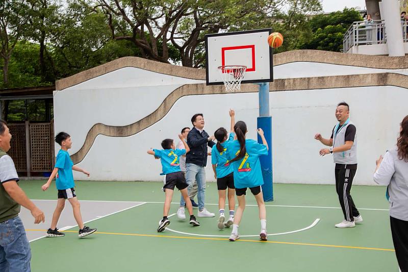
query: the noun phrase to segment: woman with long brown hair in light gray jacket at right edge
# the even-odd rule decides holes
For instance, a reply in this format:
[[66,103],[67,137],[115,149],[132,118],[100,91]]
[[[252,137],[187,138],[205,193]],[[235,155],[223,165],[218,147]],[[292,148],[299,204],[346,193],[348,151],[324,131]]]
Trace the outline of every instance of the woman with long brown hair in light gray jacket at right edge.
[[388,185],[391,233],[402,272],[408,272],[408,115],[401,122],[397,146],[376,160],[374,181]]

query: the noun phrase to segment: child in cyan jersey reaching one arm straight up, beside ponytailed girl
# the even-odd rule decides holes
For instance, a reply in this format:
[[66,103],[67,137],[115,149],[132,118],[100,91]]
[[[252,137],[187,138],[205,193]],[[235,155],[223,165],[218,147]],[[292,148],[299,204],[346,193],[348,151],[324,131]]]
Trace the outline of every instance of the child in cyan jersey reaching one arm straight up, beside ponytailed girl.
[[[227,131],[224,128],[219,128],[215,131],[214,137],[217,139],[217,144],[213,146],[211,152],[211,163],[213,164],[214,177],[217,180],[218,186],[218,209],[220,218],[218,219],[218,228],[222,230],[224,227],[230,228],[234,223],[235,212],[235,187],[234,187],[234,169],[226,158],[226,145],[234,140],[234,124],[235,112],[230,110],[231,116],[231,133],[227,137]],[[228,206],[230,208],[230,218],[225,221],[225,194],[228,188]]]

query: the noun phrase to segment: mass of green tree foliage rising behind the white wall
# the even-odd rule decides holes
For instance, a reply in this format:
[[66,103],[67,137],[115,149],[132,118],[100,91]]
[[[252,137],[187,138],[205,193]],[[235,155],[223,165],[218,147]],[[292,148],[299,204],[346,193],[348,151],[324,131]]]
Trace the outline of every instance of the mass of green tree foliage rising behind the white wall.
[[[321,14],[319,0],[119,1],[126,16],[113,0],[10,1],[30,3],[31,9],[27,13],[25,5],[29,26],[11,54],[9,84],[2,78],[0,88],[52,85],[126,56],[203,67],[204,37],[219,32],[272,28],[284,36],[274,54],[296,49],[340,51],[347,28],[362,20],[353,9]],[[15,31],[8,34],[12,40]]]

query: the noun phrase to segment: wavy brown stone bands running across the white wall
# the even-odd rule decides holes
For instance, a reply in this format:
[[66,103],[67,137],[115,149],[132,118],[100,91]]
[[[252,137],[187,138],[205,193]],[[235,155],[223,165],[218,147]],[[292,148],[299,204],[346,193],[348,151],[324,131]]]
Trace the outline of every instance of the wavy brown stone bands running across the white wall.
[[[321,62],[338,65],[360,66],[381,69],[402,69],[408,67],[406,57],[382,57],[352,55],[336,52],[299,50],[277,54],[273,57],[274,65],[282,65],[290,62]],[[83,71],[77,75],[56,82],[56,89],[77,85],[95,77],[105,75],[111,71],[123,67],[137,67],[154,72],[163,73],[175,77],[182,77],[195,80],[205,80],[206,71],[204,69],[186,68],[171,64],[158,63],[136,57],[121,58],[104,65]],[[312,77],[295,79],[278,79],[270,83],[271,91],[291,91],[291,90],[311,90],[311,89],[333,89],[346,87],[368,87],[368,86],[397,86],[408,88],[407,76],[397,73],[372,73],[365,75],[347,75],[330,77]],[[241,86],[240,92],[257,92],[258,86],[245,84]],[[157,110],[126,126],[107,126],[103,123],[96,123],[88,132],[86,140],[81,149],[71,156],[72,161],[77,164],[81,162],[89,152],[97,135],[110,137],[127,137],[150,127],[162,119],[181,97],[186,95],[220,94],[225,93],[222,85],[206,86],[206,84],[183,85],[171,92],[159,106]]]

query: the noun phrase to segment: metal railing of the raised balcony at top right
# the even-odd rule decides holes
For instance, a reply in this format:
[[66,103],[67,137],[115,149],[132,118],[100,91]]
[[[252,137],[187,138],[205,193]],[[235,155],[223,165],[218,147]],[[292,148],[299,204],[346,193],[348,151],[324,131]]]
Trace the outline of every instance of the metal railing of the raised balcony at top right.
[[[402,24],[406,22],[403,22]],[[406,27],[402,26],[406,30]],[[405,33],[406,40],[406,33]],[[381,44],[386,43],[385,23],[383,20],[375,20],[372,23],[366,21],[353,22],[348,28],[343,38],[343,52],[347,53],[349,49],[357,45]]]

